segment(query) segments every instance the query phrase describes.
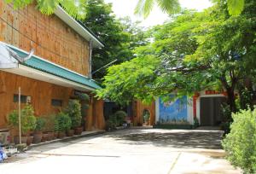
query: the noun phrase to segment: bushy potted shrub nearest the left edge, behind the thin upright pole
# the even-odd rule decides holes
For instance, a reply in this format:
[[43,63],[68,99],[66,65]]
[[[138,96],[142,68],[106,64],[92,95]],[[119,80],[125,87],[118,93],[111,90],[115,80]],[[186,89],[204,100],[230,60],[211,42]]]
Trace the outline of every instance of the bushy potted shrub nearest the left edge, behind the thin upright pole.
[[[33,107],[29,104],[21,109],[20,126],[21,126],[21,142],[28,145],[32,142],[32,136],[28,136],[29,131],[33,131],[36,127],[36,117],[34,116]],[[14,110],[9,114],[9,124],[13,125],[16,129],[19,128],[19,114]],[[19,136],[15,136],[15,144],[20,142]]]

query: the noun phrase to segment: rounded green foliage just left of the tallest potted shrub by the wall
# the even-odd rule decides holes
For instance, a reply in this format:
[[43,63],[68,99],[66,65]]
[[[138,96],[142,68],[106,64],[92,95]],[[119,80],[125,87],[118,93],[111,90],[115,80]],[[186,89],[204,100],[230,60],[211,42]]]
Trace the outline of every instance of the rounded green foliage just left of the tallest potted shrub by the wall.
[[67,113],[58,113],[55,117],[55,131],[68,131],[72,126],[72,122]]

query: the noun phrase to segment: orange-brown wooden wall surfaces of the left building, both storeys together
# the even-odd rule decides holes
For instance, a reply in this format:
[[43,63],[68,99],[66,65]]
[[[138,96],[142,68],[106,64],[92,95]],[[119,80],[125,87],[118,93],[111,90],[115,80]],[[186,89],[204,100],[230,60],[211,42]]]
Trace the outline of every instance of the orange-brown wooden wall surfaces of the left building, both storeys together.
[[[55,14],[38,12],[35,5],[15,10],[0,0],[0,41],[28,52],[34,49],[34,55],[84,76],[89,74],[89,42]],[[21,95],[31,96],[36,116],[59,112],[73,96],[71,88],[0,71],[0,129],[8,126],[8,114],[18,107],[14,96],[19,87]],[[60,100],[61,107],[53,106],[53,99]],[[103,129],[103,102],[93,100],[87,112],[86,129]]]

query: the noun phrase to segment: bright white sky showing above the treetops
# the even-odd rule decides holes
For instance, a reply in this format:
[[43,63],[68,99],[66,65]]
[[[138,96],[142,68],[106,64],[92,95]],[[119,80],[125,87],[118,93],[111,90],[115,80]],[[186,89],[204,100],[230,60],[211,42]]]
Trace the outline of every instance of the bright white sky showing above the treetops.
[[[155,7],[151,14],[149,14],[147,19],[135,15],[134,9],[136,7],[138,0],[105,0],[106,3],[113,3],[113,13],[117,17],[130,16],[131,20],[141,20],[141,26],[155,26],[162,24],[167,18],[167,14],[163,14],[160,9]],[[212,5],[209,0],[179,0],[182,8],[186,9],[197,9],[201,11],[202,9],[207,9]]]

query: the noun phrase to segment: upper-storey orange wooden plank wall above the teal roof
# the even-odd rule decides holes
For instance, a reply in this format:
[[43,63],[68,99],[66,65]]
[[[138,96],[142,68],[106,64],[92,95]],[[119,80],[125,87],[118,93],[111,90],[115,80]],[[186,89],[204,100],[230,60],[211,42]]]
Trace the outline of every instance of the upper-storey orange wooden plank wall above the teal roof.
[[89,43],[57,16],[41,14],[35,5],[14,10],[0,0],[0,41],[30,51],[88,75]]

